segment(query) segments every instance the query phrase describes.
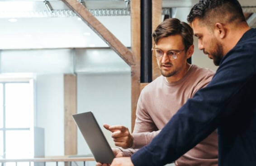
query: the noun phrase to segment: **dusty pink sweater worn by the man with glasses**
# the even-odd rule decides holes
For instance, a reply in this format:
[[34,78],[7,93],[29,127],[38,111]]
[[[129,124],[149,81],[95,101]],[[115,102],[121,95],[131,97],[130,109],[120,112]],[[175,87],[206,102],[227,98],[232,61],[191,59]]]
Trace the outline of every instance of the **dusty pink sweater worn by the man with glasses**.
[[[133,148],[147,145],[178,111],[185,102],[205,87],[213,77],[210,69],[192,65],[183,78],[167,83],[160,76],[149,83],[141,92],[137,103],[136,121],[133,130]],[[218,135],[214,131],[209,137],[185,153],[176,166],[217,166]],[[123,150],[125,156],[131,156],[136,150]]]

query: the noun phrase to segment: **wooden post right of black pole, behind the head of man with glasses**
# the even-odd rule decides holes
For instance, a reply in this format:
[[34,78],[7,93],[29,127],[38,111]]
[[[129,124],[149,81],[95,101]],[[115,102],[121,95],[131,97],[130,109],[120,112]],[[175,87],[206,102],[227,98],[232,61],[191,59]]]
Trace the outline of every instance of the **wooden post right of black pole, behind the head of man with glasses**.
[[[152,0],[152,33],[156,27],[162,22],[162,0]],[[152,39],[152,46],[154,40]],[[152,57],[152,80],[161,75],[157,65],[156,57]]]

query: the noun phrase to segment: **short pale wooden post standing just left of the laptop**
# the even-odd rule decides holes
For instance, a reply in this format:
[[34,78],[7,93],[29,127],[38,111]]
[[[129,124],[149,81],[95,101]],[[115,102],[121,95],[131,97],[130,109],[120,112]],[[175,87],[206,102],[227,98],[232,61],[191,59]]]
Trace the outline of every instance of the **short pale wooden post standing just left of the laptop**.
[[77,127],[72,115],[76,114],[76,76],[64,75],[64,153],[77,154]]

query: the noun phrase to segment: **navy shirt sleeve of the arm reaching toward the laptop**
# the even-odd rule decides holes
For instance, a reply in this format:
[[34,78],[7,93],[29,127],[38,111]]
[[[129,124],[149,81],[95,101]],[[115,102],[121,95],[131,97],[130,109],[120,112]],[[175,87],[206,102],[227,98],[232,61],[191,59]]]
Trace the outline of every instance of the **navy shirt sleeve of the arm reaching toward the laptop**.
[[247,52],[241,48],[223,57],[212,81],[180,108],[148,146],[131,157],[134,166],[175,161],[211,134],[222,119],[233,115],[244,101],[250,101],[248,94],[256,93],[256,56]]

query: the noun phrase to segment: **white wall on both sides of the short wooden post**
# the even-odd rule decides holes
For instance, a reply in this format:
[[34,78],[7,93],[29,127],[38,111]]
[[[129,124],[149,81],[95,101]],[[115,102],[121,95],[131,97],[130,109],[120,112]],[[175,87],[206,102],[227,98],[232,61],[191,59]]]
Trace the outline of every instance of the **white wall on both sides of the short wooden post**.
[[[38,75],[36,126],[45,130],[45,156],[64,155],[63,74]],[[77,112],[93,111],[100,126],[122,124],[131,129],[131,78],[123,74],[78,74]],[[111,147],[111,133],[102,127]],[[90,149],[78,130],[78,155]]]

